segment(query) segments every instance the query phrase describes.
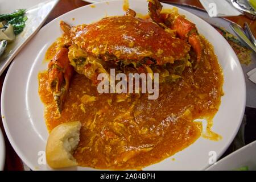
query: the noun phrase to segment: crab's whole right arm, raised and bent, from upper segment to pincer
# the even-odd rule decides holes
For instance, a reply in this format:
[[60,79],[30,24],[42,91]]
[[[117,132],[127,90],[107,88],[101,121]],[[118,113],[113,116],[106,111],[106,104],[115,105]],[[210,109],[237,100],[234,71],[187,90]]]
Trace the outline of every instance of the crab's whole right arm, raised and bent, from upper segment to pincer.
[[175,30],[177,36],[188,41],[196,52],[197,63],[201,60],[201,40],[196,29],[196,25],[185,19],[183,16],[170,17],[170,14],[160,14],[162,5],[158,0],[148,1],[148,12],[151,19],[163,28]]

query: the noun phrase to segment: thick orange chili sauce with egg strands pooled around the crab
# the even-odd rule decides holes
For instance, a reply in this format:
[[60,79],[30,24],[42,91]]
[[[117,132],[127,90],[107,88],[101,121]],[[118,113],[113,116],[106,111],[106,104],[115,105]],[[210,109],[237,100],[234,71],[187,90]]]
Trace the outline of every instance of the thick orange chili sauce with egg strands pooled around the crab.
[[[98,94],[84,75],[75,74],[61,115],[56,114],[47,72],[40,72],[39,96],[46,106],[49,131],[60,123],[80,121],[80,143],[73,154],[79,166],[99,169],[141,169],[174,155],[210,131],[221,102],[223,76],[213,47],[201,37],[202,61],[196,71],[185,69],[177,82],[159,85],[159,98]],[[53,44],[46,57],[56,50]],[[193,122],[208,119],[208,129]]]

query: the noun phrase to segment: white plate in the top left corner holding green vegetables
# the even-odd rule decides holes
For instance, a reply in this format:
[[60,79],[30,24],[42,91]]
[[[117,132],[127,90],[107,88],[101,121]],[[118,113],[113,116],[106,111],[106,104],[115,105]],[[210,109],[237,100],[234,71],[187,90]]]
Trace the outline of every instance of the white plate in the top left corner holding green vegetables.
[[0,14],[12,13],[17,9],[26,9],[26,27],[16,36],[13,43],[7,45],[5,54],[0,57],[0,75],[11,63],[22,47],[43,25],[49,13],[59,0],[0,0]]

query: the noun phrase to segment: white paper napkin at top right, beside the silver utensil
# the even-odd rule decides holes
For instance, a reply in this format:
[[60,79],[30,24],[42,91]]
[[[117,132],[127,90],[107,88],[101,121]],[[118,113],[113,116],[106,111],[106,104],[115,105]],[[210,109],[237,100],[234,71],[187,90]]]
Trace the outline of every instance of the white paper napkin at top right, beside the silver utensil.
[[200,0],[210,17],[242,15],[230,0]]

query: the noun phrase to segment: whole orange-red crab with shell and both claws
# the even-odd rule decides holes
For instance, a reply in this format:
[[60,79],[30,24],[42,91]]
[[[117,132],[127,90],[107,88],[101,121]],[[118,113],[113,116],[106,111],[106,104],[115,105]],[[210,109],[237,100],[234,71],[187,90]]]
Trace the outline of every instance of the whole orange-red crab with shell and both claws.
[[[159,1],[150,0],[150,19],[136,17],[129,9],[123,16],[71,27],[60,23],[65,43],[48,65],[49,88],[61,112],[75,70],[97,85],[100,73],[109,68],[122,72],[162,72],[176,79],[191,66],[191,47],[201,57],[200,38],[195,24],[181,15],[161,14]],[[176,76],[176,77],[175,77]]]

